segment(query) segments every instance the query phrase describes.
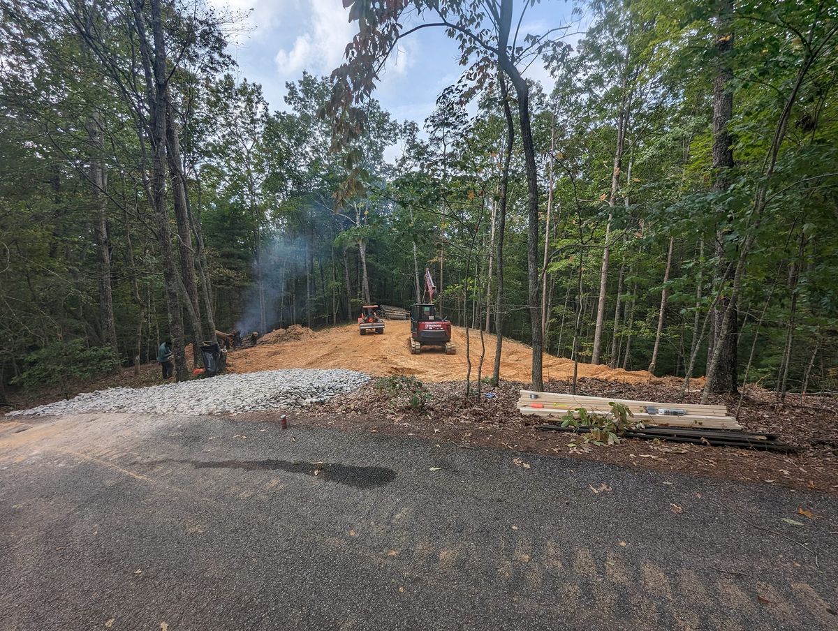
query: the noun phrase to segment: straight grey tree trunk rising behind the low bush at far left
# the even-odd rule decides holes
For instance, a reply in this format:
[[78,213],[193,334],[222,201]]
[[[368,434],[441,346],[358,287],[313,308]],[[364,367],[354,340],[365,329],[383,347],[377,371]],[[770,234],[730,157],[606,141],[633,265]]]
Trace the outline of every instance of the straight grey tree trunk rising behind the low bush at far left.
[[107,171],[103,160],[101,116],[94,112],[87,121],[87,137],[91,142],[91,197],[96,204],[96,224],[93,235],[99,256],[99,313],[101,318],[102,345],[109,346],[114,359],[119,359],[116,346],[116,323],[113,317],[113,292],[111,289],[111,240],[107,229]]

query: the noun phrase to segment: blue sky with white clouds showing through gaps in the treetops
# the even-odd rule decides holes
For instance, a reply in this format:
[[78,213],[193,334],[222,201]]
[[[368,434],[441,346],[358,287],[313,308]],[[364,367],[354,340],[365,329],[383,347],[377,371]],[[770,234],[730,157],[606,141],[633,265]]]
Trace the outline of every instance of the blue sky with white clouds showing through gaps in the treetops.
[[[272,110],[284,110],[285,83],[308,70],[328,75],[343,60],[355,23],[341,0],[209,0],[216,8],[243,16],[232,35],[230,48],[241,78],[261,83]],[[525,4],[516,4],[516,12]],[[529,8],[521,32],[541,33],[570,20],[571,4],[565,0],[542,0]],[[576,38],[569,39],[574,43]],[[431,113],[437,95],[458,80],[463,70],[457,63],[456,44],[442,28],[427,28],[402,40],[381,77],[375,97],[402,121],[419,123]],[[546,89],[552,81],[536,62],[527,75],[541,80]]]

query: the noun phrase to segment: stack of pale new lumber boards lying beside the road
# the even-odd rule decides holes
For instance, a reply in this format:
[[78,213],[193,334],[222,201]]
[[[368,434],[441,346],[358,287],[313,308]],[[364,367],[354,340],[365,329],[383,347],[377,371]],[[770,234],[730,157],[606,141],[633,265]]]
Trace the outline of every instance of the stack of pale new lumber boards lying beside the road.
[[725,406],[699,406],[682,403],[654,403],[608,399],[600,396],[560,395],[555,392],[521,390],[518,409],[521,414],[561,418],[569,411],[583,408],[589,414],[608,414],[611,404],[626,406],[634,420],[648,425],[664,427],[703,427],[706,429],[742,429],[733,416],[728,416]]

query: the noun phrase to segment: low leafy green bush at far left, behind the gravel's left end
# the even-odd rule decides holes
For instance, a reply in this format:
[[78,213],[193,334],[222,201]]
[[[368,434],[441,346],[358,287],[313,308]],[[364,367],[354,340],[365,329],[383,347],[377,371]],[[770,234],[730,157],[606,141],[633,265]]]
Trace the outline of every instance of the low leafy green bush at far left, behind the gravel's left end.
[[59,340],[23,358],[23,370],[13,383],[25,388],[64,385],[116,370],[117,363],[106,346],[85,346],[80,339]]

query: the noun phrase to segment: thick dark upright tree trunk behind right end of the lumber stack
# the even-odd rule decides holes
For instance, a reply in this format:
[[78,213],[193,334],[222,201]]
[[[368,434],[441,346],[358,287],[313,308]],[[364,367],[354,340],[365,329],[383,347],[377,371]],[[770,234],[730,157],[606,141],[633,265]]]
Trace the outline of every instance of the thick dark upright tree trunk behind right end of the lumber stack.
[[[730,188],[730,170],[733,168],[732,137],[728,125],[733,116],[733,31],[732,0],[720,0],[716,15],[716,77],[713,80],[713,184],[712,190],[724,193]],[[723,283],[731,282],[733,266],[725,250],[727,241],[727,210],[716,209],[716,275]],[[732,317],[724,318],[727,310],[732,310]],[[732,394],[737,391],[737,305],[722,294],[713,312],[712,354],[719,353],[718,369],[706,384],[706,390],[713,394]],[[722,328],[722,321],[726,323]],[[708,353],[709,354],[709,353]]]

